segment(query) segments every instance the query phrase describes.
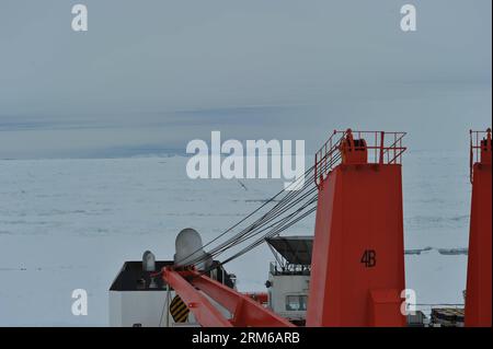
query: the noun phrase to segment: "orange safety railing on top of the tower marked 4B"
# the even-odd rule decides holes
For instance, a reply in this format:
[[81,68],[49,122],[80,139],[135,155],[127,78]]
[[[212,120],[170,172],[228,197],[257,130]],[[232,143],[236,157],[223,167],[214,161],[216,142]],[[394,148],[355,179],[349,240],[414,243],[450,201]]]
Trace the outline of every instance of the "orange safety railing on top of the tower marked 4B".
[[317,186],[341,163],[341,143],[347,137],[352,136],[355,140],[365,139],[366,146],[356,146],[354,150],[366,148],[368,163],[401,164],[402,153],[406,150],[402,146],[405,135],[406,132],[334,130],[329,140],[316,153],[314,182]]

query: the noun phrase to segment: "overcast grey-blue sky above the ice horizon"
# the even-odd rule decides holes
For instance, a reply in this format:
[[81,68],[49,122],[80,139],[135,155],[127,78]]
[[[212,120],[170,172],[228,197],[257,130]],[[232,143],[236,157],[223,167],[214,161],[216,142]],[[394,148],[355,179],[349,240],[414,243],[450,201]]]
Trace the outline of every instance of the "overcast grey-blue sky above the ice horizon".
[[[89,9],[74,33],[71,7]],[[417,32],[400,8],[417,9]],[[0,159],[491,125],[490,0],[0,0]],[[437,136],[438,135],[438,136]]]

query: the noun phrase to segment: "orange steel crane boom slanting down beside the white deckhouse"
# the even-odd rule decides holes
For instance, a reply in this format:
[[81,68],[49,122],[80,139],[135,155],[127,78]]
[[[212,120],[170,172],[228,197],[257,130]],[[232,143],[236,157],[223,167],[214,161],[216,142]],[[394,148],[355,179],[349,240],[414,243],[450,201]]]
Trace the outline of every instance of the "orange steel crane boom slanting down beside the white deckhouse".
[[[205,327],[294,327],[250,296],[217,282],[196,270],[162,270],[162,277],[187,304],[196,319]],[[207,294],[207,296],[205,295]],[[225,317],[209,298],[220,304],[231,318]]]

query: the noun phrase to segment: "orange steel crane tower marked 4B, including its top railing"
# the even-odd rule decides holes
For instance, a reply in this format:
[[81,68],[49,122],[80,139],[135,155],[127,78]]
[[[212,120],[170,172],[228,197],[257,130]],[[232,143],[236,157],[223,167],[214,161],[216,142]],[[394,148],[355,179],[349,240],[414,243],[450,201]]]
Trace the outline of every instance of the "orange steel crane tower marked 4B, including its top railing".
[[307,326],[404,326],[404,132],[334,131],[319,188]]

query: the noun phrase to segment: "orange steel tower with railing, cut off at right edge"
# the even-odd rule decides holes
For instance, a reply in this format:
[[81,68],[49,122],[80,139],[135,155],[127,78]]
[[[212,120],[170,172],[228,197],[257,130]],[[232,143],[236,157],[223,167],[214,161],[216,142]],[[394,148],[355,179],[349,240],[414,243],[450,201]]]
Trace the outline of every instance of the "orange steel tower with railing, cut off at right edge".
[[492,144],[491,129],[470,131],[472,183],[466,326],[491,327],[492,313]]

